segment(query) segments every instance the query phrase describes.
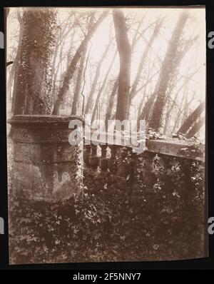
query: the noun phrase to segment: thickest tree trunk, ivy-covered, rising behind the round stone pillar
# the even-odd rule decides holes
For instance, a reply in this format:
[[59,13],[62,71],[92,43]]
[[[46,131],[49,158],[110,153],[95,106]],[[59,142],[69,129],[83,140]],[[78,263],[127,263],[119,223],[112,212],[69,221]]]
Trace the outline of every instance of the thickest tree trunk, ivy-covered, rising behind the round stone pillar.
[[50,66],[56,14],[53,9],[29,9],[23,13],[23,37],[19,70],[14,81],[14,114],[49,114]]

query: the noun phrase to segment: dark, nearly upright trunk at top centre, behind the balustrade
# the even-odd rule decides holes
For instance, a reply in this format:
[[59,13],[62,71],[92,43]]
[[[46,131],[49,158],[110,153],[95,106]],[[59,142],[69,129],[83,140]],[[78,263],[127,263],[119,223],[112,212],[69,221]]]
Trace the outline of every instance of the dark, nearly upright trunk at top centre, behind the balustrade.
[[128,99],[130,95],[131,46],[128,41],[125,17],[122,11],[113,10],[113,22],[116,30],[116,42],[120,56],[120,73],[118,83],[118,102],[116,119],[128,118]]

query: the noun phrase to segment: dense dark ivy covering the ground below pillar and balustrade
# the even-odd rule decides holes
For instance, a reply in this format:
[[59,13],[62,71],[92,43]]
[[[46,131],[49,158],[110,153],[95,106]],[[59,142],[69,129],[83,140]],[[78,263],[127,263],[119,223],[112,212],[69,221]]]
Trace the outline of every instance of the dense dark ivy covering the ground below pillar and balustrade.
[[[122,155],[123,156],[123,155]],[[81,196],[64,203],[11,197],[13,263],[169,260],[203,256],[203,164],[141,155],[117,159],[112,171],[85,170]],[[116,168],[122,168],[116,172]],[[166,164],[166,162],[165,162]],[[126,171],[127,170],[127,171]]]

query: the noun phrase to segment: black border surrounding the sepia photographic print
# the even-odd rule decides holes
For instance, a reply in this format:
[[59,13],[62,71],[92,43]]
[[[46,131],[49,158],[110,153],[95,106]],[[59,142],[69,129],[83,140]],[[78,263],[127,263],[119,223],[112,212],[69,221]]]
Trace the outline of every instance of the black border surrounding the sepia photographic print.
[[[57,1],[57,0],[1,0],[0,4],[0,31],[5,30],[4,7],[10,6],[189,6],[200,5],[206,9],[206,40],[208,43],[209,31],[214,31],[214,5],[211,1]],[[8,213],[7,213],[7,173],[6,173],[6,75],[5,54],[6,49],[0,49],[0,149],[1,149],[1,190],[0,190],[0,216],[4,218],[5,235],[0,235],[0,270],[202,270],[214,268],[214,235],[209,235],[209,256],[194,260],[174,260],[158,262],[123,262],[123,263],[62,263],[62,264],[31,264],[31,265],[9,265],[8,251]],[[214,64],[214,49],[208,49],[207,45],[207,193],[208,193],[208,216],[214,216],[214,195],[212,178],[214,167],[214,123],[212,122],[212,110],[214,108],[214,80],[212,71]],[[213,206],[213,207],[212,207]],[[53,275],[55,273],[53,272]]]

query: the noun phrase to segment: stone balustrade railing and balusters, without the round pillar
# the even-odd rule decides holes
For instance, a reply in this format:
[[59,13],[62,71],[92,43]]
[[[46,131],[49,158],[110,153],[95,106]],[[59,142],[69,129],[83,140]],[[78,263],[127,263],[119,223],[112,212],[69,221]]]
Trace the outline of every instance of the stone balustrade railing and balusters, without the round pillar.
[[94,145],[92,141],[91,145],[84,146],[83,156],[86,166],[91,166],[92,168],[100,166],[101,169],[107,170],[108,165],[121,156],[121,152],[123,159],[130,154],[133,157],[140,155],[148,159],[148,162],[149,160],[152,161],[156,155],[162,158],[175,157],[205,161],[205,146],[202,143],[195,145],[194,143],[178,139],[147,140],[146,150],[140,154],[133,147],[106,144]]

